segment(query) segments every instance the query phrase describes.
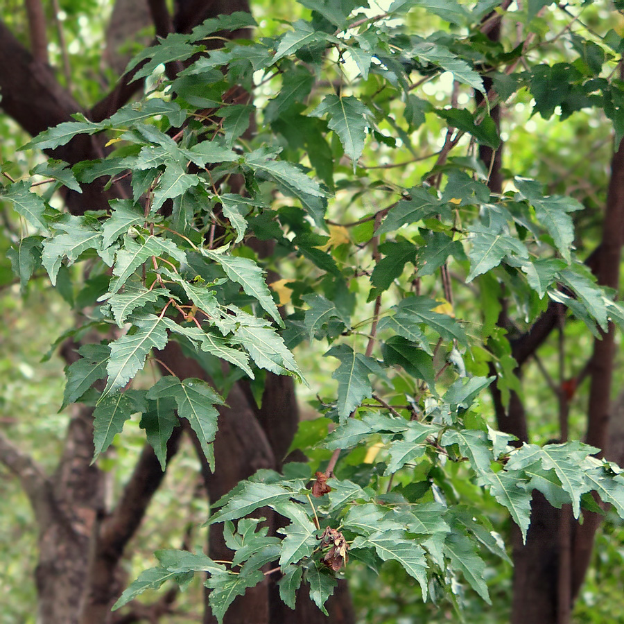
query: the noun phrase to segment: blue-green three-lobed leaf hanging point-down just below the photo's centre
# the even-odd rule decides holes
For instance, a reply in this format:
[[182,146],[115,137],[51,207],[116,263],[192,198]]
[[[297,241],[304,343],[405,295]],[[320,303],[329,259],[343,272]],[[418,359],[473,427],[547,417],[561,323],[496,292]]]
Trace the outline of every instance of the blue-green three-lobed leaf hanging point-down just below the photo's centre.
[[347,345],[331,347],[325,356],[340,360],[340,366],[332,377],[338,380],[338,415],[344,421],[363,399],[370,399],[372,396],[368,376],[373,373],[383,376],[383,370],[372,358],[354,352]]

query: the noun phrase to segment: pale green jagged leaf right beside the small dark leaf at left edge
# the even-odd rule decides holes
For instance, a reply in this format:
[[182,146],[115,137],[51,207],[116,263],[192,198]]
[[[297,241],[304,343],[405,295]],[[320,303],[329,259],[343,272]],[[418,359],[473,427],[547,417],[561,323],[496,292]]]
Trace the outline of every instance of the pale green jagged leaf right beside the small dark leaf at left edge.
[[62,259],[67,257],[69,263],[76,261],[80,254],[88,249],[98,249],[102,242],[102,234],[87,225],[84,217],[67,215],[63,221],[55,223],[63,234],[55,234],[43,242],[41,263],[45,267],[50,281],[54,286]]

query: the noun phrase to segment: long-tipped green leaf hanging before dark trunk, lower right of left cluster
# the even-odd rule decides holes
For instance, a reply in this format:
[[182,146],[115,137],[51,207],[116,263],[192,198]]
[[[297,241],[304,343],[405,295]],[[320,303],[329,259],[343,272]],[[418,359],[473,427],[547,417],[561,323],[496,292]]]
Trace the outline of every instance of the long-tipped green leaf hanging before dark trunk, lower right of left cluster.
[[214,471],[214,456],[209,444],[214,440],[217,431],[218,411],[215,405],[223,405],[223,398],[201,379],[184,379],[177,377],[161,377],[148,390],[148,399],[171,398],[177,404],[177,415],[186,418],[197,434],[202,450]]

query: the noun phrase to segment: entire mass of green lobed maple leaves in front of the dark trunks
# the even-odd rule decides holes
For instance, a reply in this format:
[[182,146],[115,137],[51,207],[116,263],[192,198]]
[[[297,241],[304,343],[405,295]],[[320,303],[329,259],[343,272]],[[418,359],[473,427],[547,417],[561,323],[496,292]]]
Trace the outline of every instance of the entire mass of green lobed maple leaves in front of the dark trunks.
[[[218,406],[243,377],[261,397],[267,371],[307,384],[318,413],[292,447],[311,462],[261,470],[212,503],[231,562],[158,551],[116,607],[204,571],[221,621],[279,571],[286,605],[305,581],[324,609],[347,562],[374,573],[397,562],[423,600],[456,600],[465,582],[489,601],[483,553],[508,555],[474,494],[453,485],[462,480],[506,508],[523,538],[535,490],[555,508],[571,503],[575,518],[597,509],[592,492],[624,517],[624,479],[600,449],[514,444],[488,416],[495,380],[503,404],[521,392],[497,324],[503,297],[517,331],[551,301],[594,336],[622,327],[624,308],[575,254],[584,206],[522,170],[492,190],[494,157],[478,156],[501,144],[492,108],[516,97],[544,119],[602,110],[619,144],[624,40],[565,24],[550,41],[503,45],[486,36],[498,5],[488,0],[395,0],[379,14],[357,0],[301,4],[304,19],[277,35],[234,13],[159,40],[128,68],[146,81],[141,101],[103,121],[77,115],[26,146],[105,133],[101,159],[47,160],[33,171],[45,185],[7,173],[0,191],[22,220],[9,252],[21,285],[44,270],[85,311],[61,338],[101,338],[67,367],[63,398],[95,406],[94,460],[139,413],[163,469],[179,419],[214,469]],[[516,19],[538,32],[545,6],[529,2]],[[440,29],[415,28],[424,12]],[[221,31],[249,27],[254,40],[205,53]],[[422,92],[436,81],[450,86],[449,105]],[[130,183],[109,211],[69,214],[53,200],[102,179]],[[169,340],[214,383],[167,374],[158,352]],[[163,376],[133,385],[146,362]],[[333,386],[319,369],[333,370]],[[263,508],[284,517],[278,535]]]

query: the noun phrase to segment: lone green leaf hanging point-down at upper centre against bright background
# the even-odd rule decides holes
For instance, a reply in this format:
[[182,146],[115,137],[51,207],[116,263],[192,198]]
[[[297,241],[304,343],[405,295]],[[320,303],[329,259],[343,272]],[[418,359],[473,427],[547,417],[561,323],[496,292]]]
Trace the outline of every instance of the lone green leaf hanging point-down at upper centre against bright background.
[[366,129],[370,128],[368,121],[371,112],[367,107],[353,96],[338,97],[327,95],[323,101],[311,112],[310,116],[329,117],[330,130],[336,132],[343,144],[345,154],[353,161],[355,173],[358,166],[358,158],[364,149]]

